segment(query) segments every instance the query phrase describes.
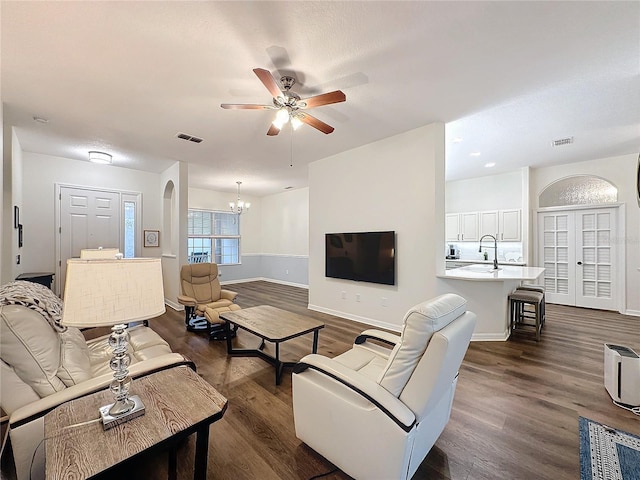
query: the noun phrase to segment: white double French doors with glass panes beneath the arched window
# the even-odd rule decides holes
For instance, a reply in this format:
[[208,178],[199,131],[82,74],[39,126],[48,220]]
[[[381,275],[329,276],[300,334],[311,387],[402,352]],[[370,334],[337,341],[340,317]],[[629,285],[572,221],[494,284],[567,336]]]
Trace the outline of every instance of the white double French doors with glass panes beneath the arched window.
[[618,310],[616,220],[616,208],[538,213],[549,303]]

